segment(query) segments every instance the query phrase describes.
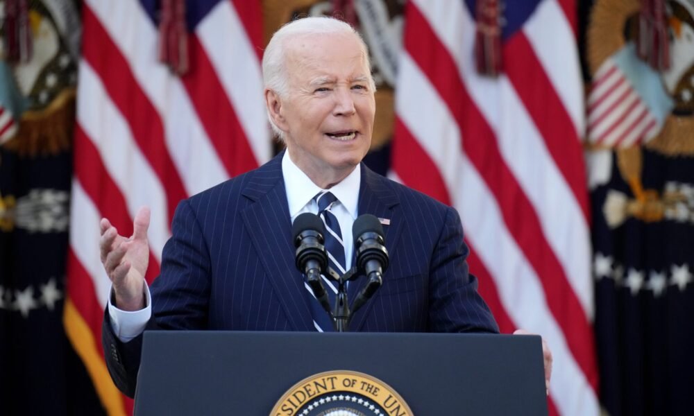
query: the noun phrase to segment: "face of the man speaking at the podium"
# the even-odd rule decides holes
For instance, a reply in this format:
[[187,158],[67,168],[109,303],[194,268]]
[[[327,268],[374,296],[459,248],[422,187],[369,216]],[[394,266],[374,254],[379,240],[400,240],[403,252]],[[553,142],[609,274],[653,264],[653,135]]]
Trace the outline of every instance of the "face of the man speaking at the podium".
[[369,150],[375,114],[369,67],[354,35],[294,37],[285,56],[289,94],[279,100],[278,126],[292,161],[326,187]]

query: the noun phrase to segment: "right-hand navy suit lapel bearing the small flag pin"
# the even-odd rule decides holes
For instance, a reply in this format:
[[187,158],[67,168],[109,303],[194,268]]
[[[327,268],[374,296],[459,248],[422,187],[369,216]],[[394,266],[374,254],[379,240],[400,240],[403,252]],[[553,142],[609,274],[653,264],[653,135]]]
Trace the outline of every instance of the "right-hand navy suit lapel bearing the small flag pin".
[[[362,183],[359,186],[359,215],[371,214],[380,219],[390,220],[389,225],[383,225],[386,249],[389,254],[395,251],[400,232],[403,229],[405,217],[401,214],[399,200],[393,189],[388,184],[388,180],[377,173],[371,171],[364,164],[362,168]],[[386,279],[388,273],[385,273]],[[357,294],[366,285],[366,277],[359,277],[354,284],[350,284],[350,302],[355,300]],[[378,292],[374,295],[378,296]],[[373,302],[369,301],[353,315],[350,323],[351,331],[358,331],[369,315]]]

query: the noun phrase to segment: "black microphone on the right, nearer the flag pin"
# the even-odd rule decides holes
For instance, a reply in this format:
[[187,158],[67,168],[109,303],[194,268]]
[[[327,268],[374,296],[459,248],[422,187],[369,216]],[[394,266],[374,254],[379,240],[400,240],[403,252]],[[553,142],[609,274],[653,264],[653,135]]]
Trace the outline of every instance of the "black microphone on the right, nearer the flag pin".
[[357,250],[357,268],[364,270],[369,279],[357,296],[352,311],[355,312],[381,287],[383,273],[388,268],[388,250],[384,245],[383,227],[371,214],[359,216],[352,225],[352,236]]

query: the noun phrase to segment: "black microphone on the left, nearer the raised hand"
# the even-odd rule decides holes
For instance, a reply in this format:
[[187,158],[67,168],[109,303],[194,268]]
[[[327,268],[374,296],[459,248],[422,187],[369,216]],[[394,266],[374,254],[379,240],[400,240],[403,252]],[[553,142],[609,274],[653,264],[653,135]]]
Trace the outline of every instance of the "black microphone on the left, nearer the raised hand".
[[323,245],[324,232],[325,225],[321,218],[310,212],[296,217],[291,227],[294,247],[296,247],[296,268],[306,275],[306,280],[316,299],[332,318],[328,293],[325,292],[321,279],[321,273],[328,268],[328,252]]

